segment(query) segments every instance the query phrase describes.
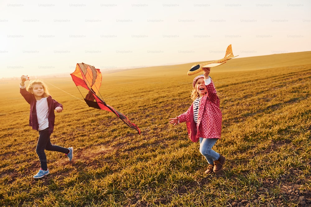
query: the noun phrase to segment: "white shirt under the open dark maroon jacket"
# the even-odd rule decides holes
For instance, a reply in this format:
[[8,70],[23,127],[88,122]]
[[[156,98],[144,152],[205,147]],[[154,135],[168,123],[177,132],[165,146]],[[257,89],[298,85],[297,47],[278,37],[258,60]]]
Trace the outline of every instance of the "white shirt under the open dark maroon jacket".
[[43,130],[49,127],[49,106],[47,98],[41,98],[36,103],[37,119],[39,124],[38,130]]

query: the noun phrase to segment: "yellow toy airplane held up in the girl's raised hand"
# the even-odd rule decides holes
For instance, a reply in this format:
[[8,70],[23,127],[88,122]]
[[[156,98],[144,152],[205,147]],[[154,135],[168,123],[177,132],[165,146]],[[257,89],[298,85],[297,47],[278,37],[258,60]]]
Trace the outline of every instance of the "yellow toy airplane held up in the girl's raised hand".
[[192,65],[191,69],[188,71],[187,74],[188,75],[197,74],[197,73],[202,71],[202,68],[211,68],[211,67],[216,67],[218,65],[222,65],[222,64],[226,63],[227,60],[230,60],[231,58],[234,58],[234,57],[236,57],[236,56],[233,55],[232,47],[231,47],[231,45],[229,45],[227,47],[226,54],[225,54],[224,58],[217,60],[217,61],[201,63],[200,65],[194,64],[194,65]]

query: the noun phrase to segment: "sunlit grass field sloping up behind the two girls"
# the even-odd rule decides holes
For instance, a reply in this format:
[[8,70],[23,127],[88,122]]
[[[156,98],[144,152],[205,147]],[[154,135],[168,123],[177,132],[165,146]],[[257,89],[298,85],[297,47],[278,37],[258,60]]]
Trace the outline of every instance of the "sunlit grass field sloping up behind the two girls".
[[47,151],[51,174],[41,179],[32,178],[40,165],[29,104],[19,80],[2,80],[0,206],[310,206],[311,52],[211,69],[223,113],[214,149],[226,157],[213,175],[204,174],[207,162],[186,124],[168,124],[191,105],[191,65],[103,71],[101,96],[141,135],[79,101],[69,74],[44,79],[64,106],[51,141],[73,146],[74,158]]

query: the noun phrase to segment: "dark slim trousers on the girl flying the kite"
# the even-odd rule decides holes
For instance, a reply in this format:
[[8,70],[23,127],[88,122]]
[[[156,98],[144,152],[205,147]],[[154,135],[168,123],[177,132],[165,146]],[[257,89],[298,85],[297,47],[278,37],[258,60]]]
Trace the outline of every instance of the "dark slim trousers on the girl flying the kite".
[[63,152],[65,154],[68,152],[68,148],[57,146],[57,145],[52,145],[51,140],[50,140],[50,135],[51,133],[50,133],[49,128],[39,131],[39,139],[37,143],[36,152],[37,152],[37,155],[39,156],[41,168],[43,170],[48,169],[46,155],[45,155],[44,150]]

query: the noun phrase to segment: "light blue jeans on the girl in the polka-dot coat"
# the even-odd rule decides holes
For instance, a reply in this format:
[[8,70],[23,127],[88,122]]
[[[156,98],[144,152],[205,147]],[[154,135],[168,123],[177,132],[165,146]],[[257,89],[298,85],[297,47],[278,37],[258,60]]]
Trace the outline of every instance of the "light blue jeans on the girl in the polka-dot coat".
[[217,140],[217,138],[207,139],[200,137],[200,153],[205,157],[208,164],[214,165],[213,161],[218,160],[220,157],[219,153],[211,149]]

